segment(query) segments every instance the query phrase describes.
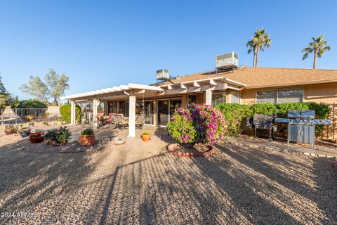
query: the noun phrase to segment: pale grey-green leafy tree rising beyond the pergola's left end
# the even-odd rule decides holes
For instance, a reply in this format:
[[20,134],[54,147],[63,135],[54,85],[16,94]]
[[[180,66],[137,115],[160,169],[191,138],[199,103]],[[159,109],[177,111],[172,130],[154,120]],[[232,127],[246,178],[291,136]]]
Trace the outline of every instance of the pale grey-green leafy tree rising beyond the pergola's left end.
[[[34,96],[48,105],[58,105],[60,96],[65,94],[65,90],[70,86],[67,84],[69,77],[65,74],[58,75],[53,69],[45,75],[44,81],[39,76],[29,77],[27,84],[23,84],[20,89],[23,93]],[[52,101],[49,101],[52,98]]]

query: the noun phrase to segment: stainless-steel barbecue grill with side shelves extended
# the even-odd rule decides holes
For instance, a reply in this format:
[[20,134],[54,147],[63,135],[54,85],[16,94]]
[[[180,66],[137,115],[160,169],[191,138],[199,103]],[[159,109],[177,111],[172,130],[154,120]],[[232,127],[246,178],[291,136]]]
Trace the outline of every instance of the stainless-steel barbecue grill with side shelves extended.
[[315,110],[289,110],[288,118],[275,118],[275,122],[288,124],[289,141],[310,143],[315,146],[315,124],[330,125],[331,120],[315,120]]

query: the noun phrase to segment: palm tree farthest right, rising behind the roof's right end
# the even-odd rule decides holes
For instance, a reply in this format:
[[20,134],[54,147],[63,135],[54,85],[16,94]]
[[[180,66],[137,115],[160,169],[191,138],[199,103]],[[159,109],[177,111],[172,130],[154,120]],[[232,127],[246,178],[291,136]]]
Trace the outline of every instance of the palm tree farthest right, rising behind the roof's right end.
[[321,58],[325,51],[330,51],[331,47],[327,46],[328,41],[325,41],[323,39],[324,35],[319,35],[318,37],[311,37],[312,42],[309,43],[309,46],[302,49],[302,52],[304,52],[304,55],[302,57],[302,60],[305,60],[305,58],[308,58],[309,53],[314,53],[314,65],[312,68],[316,68],[316,60],[317,56]]

